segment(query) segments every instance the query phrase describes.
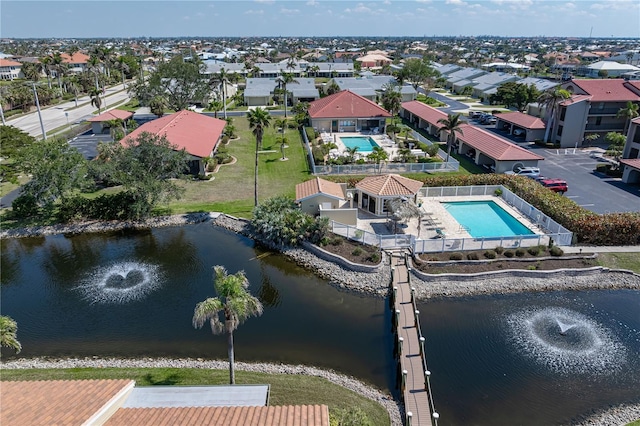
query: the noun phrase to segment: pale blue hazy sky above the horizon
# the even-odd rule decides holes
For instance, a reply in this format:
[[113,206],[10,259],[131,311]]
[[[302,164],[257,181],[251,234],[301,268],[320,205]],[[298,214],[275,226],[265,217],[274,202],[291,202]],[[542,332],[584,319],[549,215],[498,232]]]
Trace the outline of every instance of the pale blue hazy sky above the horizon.
[[480,35],[640,37],[640,1],[0,1],[2,38]]

